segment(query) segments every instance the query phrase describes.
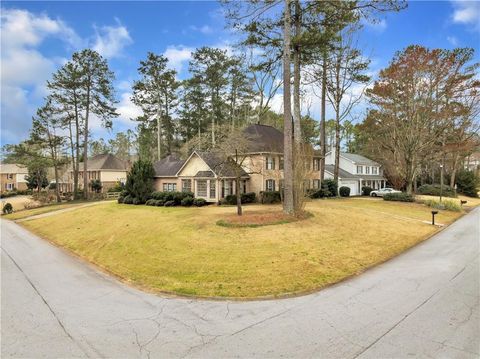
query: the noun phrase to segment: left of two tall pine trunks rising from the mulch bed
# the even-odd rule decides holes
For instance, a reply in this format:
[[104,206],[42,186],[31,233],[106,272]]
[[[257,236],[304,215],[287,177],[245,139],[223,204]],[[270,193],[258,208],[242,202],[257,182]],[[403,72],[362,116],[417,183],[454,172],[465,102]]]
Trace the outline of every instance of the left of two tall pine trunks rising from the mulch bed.
[[283,122],[284,122],[284,149],[283,149],[283,173],[284,173],[284,202],[283,211],[294,214],[293,205],[293,128],[292,106],[290,90],[290,41],[291,19],[290,0],[285,0],[284,15],[284,44],[283,44]]

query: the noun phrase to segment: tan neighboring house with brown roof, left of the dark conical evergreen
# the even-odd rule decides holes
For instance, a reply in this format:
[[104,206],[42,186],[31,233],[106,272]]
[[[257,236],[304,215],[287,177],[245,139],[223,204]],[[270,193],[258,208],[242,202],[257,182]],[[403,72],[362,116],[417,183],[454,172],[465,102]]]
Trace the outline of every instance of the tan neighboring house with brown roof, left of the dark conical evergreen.
[[[125,183],[127,179],[128,165],[118,157],[112,154],[96,155],[87,161],[87,179],[88,183],[92,180],[100,180],[102,183],[102,192],[114,187],[118,182]],[[78,186],[83,189],[83,162],[79,164]],[[60,179],[60,189],[62,192],[73,191],[73,169],[70,167],[67,176]]]

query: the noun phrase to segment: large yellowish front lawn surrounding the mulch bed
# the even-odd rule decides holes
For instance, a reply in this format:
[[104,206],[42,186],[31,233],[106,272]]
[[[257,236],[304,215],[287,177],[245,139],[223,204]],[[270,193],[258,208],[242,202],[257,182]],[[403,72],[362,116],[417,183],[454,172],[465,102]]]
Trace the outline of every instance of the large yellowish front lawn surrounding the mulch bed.
[[[245,212],[278,211],[251,205]],[[369,198],[316,200],[313,217],[258,228],[216,222],[233,207],[105,203],[22,225],[137,286],[183,295],[280,296],[315,290],[383,262],[438,230],[430,208]],[[440,211],[450,223],[461,214]]]

